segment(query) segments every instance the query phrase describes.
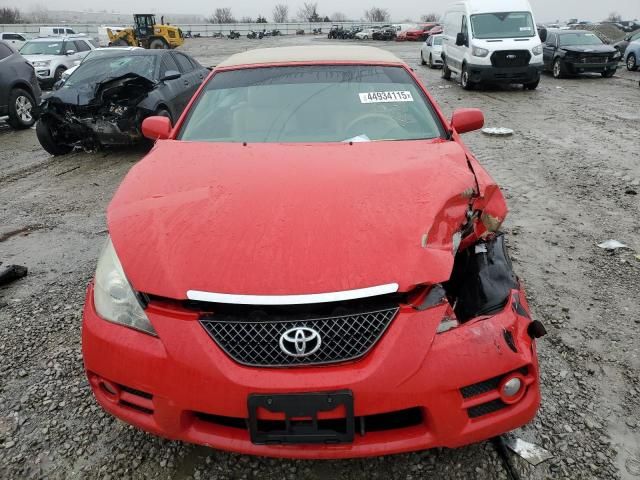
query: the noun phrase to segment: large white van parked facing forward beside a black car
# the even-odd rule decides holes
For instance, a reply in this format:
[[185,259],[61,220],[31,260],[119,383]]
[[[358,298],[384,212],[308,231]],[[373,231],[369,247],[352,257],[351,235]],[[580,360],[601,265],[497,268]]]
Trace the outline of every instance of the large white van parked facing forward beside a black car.
[[460,77],[465,90],[518,83],[535,90],[543,69],[542,41],[527,0],[467,0],[442,18],[442,77]]

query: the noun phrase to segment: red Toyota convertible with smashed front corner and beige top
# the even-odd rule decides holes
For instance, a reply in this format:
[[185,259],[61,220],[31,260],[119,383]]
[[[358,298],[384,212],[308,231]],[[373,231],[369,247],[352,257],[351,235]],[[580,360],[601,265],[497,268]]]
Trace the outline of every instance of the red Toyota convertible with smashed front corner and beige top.
[[529,422],[535,338],[495,182],[405,63],[231,57],[113,200],[82,343],[109,413],[272,457],[459,447]]

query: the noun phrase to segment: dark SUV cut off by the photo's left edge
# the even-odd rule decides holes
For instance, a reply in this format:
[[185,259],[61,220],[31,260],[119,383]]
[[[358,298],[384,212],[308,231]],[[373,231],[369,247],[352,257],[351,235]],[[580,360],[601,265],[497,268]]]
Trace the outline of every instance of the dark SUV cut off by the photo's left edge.
[[29,62],[11,45],[0,41],[0,117],[9,116],[13,128],[29,128],[37,117],[40,86]]

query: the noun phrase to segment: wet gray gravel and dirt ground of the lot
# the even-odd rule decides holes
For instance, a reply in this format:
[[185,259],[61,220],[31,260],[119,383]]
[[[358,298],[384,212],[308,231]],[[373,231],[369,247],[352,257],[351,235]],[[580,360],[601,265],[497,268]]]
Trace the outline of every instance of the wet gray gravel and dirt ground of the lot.
[[[247,48],[326,43],[190,40],[215,65]],[[554,80],[535,92],[466,92],[418,64],[418,44],[382,44],[416,69],[447,114],[480,107],[511,138],[466,141],[503,186],[505,225],[539,342],[543,404],[516,434],[554,458],[523,478],[640,478],[640,75]],[[0,122],[1,124],[1,122]],[[490,443],[388,458],[251,458],[161,440],[103,413],[83,375],[84,289],[104,211],[138,151],[48,156],[33,130],[0,125],[0,261],[29,276],[0,289],[2,478],[507,478]],[[615,253],[596,245],[617,239]]]

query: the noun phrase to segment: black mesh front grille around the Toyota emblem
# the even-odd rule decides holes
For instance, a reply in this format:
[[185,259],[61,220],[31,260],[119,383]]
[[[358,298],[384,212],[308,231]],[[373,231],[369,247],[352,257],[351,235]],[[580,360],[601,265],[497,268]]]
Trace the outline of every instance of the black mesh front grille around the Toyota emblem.
[[[374,311],[348,313],[322,318],[238,318],[236,315],[214,314],[200,323],[211,338],[233,360],[255,367],[287,367],[317,365],[355,360],[364,356],[385,332],[398,307]],[[308,356],[292,356],[280,346],[282,335],[294,328],[315,330],[320,346]],[[313,350],[313,341],[306,345]],[[289,350],[293,346],[288,343]],[[294,353],[295,350],[293,351]]]

